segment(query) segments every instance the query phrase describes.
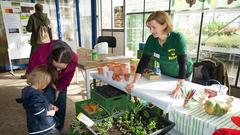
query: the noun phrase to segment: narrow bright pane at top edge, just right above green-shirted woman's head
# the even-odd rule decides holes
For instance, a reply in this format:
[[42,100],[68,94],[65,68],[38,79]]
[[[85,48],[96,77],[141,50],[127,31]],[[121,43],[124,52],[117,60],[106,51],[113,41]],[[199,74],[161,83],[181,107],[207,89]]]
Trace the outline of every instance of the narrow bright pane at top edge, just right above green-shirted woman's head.
[[[204,0],[196,0],[195,4],[190,5],[186,0],[172,0],[171,10],[196,10],[202,9],[204,3],[201,2]],[[207,1],[205,1],[206,3]]]

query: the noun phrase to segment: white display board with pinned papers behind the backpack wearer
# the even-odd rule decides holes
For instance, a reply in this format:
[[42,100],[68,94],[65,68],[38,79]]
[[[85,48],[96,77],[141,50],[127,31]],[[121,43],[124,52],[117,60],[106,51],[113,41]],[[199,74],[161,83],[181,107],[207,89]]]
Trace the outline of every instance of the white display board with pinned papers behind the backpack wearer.
[[[33,14],[35,3],[1,1],[1,16],[7,38],[7,51],[10,60],[29,58],[31,33],[26,31],[26,25]],[[48,13],[48,5],[43,4],[44,12]],[[3,28],[1,28],[3,29]],[[2,43],[1,43],[2,44]],[[4,43],[3,43],[4,44]],[[6,44],[6,43],[5,43]]]

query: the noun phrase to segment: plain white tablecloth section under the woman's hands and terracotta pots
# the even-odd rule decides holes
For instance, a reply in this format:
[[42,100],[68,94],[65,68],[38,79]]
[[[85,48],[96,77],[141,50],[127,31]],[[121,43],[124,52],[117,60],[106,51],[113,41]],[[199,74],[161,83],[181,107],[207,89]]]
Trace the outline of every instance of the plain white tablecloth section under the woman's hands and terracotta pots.
[[[117,82],[110,78],[105,78],[102,75],[97,73],[91,74],[93,79],[101,80],[109,85],[112,85],[124,92],[125,86],[133,80],[133,76],[130,77],[130,80],[127,82],[124,79]],[[159,80],[147,80],[141,78],[136,87],[132,90],[131,95],[142,98],[147,102],[151,102],[157,107],[161,108],[164,113],[168,113],[173,106],[182,106],[183,99],[174,99],[169,93],[176,88],[177,79],[161,75]],[[186,82],[187,89],[194,88],[196,90],[202,91],[204,86]]]

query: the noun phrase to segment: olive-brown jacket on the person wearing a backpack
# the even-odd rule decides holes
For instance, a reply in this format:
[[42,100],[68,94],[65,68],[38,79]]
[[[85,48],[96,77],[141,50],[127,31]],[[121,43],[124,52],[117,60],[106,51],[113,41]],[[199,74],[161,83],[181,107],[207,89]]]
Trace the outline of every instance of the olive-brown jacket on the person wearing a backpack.
[[[28,24],[26,26],[26,29],[28,32],[32,32],[31,35],[31,45],[37,46],[37,34],[40,26],[47,26],[49,28],[50,20],[47,17],[47,14],[36,12],[32,14],[28,20]],[[49,28],[49,36],[50,39],[52,39],[51,29]]]

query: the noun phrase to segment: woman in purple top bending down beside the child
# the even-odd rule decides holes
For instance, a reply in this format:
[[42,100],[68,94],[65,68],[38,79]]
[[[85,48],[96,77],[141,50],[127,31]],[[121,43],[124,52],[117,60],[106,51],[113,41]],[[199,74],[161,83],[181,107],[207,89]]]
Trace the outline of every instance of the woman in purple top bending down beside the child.
[[52,83],[44,89],[44,95],[51,104],[59,108],[56,113],[59,119],[59,126],[57,127],[59,130],[64,127],[67,87],[71,83],[77,62],[77,54],[72,51],[67,43],[63,41],[52,41],[42,44],[41,47],[32,54],[27,68],[27,73],[29,74],[35,67],[48,67],[48,71],[52,77]]

